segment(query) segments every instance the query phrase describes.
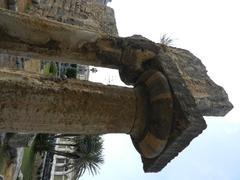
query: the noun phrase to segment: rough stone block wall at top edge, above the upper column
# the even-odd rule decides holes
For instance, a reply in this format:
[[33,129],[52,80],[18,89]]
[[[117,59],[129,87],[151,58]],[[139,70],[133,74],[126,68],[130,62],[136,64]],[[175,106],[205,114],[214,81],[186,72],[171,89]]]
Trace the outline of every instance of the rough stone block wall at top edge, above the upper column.
[[43,0],[33,3],[27,13],[117,36],[114,11],[105,0]]

